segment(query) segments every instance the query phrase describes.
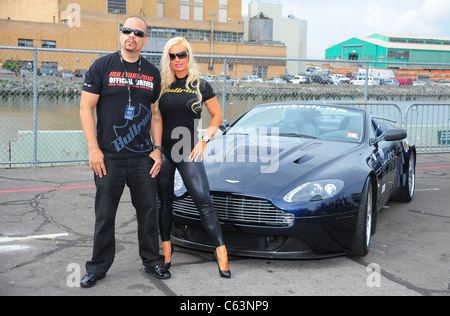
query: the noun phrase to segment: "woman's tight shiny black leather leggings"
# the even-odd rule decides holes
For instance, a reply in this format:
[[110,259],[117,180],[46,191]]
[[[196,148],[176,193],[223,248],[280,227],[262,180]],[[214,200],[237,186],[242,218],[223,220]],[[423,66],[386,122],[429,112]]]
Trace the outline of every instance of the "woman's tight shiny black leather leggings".
[[212,205],[209,182],[203,162],[181,161],[175,163],[165,155],[162,155],[162,167],[158,176],[158,215],[162,241],[170,240],[172,230],[176,169],[178,169],[189,195],[199,210],[203,228],[216,247],[223,246],[222,227]]

